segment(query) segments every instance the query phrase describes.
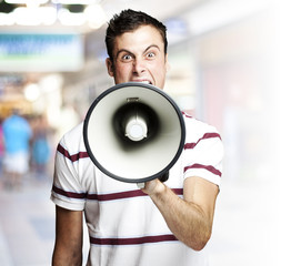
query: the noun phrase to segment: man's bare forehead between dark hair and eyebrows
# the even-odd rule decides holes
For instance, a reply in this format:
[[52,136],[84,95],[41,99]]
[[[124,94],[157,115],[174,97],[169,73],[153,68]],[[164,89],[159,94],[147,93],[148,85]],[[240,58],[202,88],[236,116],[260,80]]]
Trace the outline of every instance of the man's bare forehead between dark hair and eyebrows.
[[157,45],[160,51],[164,52],[164,42],[160,32],[152,25],[141,25],[134,31],[117,37],[113,51],[114,54],[120,50],[141,52],[150,45]]

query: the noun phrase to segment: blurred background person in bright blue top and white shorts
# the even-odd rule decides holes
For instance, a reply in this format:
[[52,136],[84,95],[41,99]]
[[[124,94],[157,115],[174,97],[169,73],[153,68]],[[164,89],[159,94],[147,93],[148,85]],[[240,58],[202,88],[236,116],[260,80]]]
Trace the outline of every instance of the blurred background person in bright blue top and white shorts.
[[4,160],[3,170],[8,188],[20,188],[22,176],[29,171],[30,140],[29,122],[14,109],[3,121]]

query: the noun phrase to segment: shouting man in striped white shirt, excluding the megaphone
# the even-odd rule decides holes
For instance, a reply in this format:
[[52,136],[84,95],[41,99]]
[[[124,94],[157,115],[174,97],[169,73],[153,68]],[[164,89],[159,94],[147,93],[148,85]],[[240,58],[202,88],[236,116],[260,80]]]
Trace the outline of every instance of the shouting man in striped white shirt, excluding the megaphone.
[[[168,58],[161,22],[122,11],[110,21],[106,43],[108,72],[117,84],[134,81],[163,89]],[[54,266],[81,265],[83,214],[91,244],[88,265],[207,265],[201,249],[211,236],[222,144],[214,127],[183,116],[185,145],[169,180],[147,182],[142,191],[93,165],[82,124],[63,136],[51,196],[57,205]]]

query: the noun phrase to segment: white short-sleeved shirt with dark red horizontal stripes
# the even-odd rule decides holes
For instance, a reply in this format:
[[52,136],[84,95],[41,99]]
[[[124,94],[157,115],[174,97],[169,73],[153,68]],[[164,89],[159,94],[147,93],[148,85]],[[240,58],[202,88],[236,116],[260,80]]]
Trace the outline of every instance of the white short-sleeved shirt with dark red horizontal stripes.
[[[213,126],[183,114],[184,150],[170,170],[169,186],[182,197],[183,181],[200,176],[218,186],[223,147]],[[84,211],[90,235],[88,265],[203,266],[205,250],[194,252],[173,236],[151,198],[136,184],[116,181],[91,162],[83,124],[58,145],[51,200],[72,211]]]

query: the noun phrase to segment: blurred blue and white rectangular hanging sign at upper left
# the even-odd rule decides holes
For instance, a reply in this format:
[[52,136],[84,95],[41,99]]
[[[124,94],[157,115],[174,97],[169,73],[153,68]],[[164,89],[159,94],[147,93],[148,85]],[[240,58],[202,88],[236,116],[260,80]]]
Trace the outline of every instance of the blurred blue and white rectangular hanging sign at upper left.
[[83,38],[78,34],[0,33],[0,71],[78,71]]

